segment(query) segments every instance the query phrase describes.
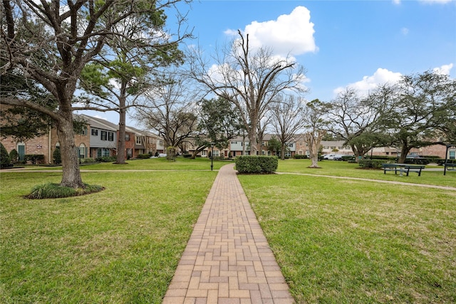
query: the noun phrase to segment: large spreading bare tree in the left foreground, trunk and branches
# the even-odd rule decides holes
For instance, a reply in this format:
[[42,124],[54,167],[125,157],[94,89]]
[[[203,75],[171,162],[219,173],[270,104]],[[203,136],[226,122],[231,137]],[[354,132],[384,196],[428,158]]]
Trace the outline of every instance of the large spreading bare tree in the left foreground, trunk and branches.
[[[138,5],[141,2],[141,5]],[[27,99],[1,102],[38,110],[56,122],[60,141],[62,186],[85,187],[78,166],[73,130],[73,95],[86,63],[99,56],[116,24],[137,14],[160,11],[173,1],[2,1],[1,74],[16,68],[43,85],[58,102],[56,110]]]

